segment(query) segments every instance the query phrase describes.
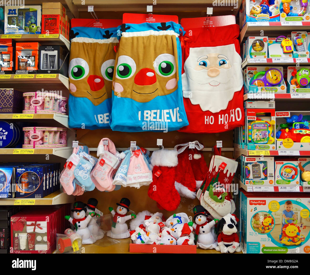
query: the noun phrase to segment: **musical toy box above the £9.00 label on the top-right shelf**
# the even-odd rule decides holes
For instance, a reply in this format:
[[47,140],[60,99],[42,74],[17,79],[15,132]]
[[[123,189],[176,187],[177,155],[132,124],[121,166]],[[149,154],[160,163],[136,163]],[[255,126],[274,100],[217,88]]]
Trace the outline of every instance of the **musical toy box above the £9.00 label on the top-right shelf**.
[[262,0],[242,2],[243,26],[247,22],[278,22],[280,21],[280,0]]

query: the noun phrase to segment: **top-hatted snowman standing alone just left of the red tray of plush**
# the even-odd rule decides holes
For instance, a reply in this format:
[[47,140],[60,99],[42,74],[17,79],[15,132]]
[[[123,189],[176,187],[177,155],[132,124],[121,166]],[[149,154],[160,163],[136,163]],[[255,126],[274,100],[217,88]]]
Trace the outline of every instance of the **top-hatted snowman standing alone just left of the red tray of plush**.
[[135,219],[136,215],[126,215],[127,211],[129,211],[129,205],[130,200],[127,198],[122,198],[120,203],[117,203],[116,212],[112,207],[109,207],[109,211],[113,216],[113,222],[111,230],[107,233],[108,237],[115,239],[125,239],[130,237],[130,231],[128,231],[126,221]]

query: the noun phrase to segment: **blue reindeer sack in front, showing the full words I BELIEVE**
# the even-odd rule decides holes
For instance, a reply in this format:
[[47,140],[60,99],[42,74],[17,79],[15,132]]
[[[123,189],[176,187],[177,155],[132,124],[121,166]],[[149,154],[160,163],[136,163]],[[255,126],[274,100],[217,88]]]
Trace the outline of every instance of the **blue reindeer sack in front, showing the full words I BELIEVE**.
[[122,24],[113,75],[113,131],[174,131],[188,125],[180,29],[175,22]]

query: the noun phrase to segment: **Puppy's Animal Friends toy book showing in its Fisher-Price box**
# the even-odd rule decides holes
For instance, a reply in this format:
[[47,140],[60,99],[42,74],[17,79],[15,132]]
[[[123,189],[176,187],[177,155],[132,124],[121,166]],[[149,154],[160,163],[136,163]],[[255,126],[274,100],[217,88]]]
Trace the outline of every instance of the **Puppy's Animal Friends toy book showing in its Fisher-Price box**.
[[248,126],[249,141],[255,144],[273,144],[272,125],[269,121],[255,120]]

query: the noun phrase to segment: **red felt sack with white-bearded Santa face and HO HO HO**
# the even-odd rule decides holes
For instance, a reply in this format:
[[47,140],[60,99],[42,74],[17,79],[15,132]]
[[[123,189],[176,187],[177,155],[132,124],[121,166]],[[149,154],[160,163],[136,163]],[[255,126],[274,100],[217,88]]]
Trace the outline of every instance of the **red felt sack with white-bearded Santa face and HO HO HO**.
[[244,125],[239,25],[186,30],[182,68],[189,125],[179,131],[219,133]]

